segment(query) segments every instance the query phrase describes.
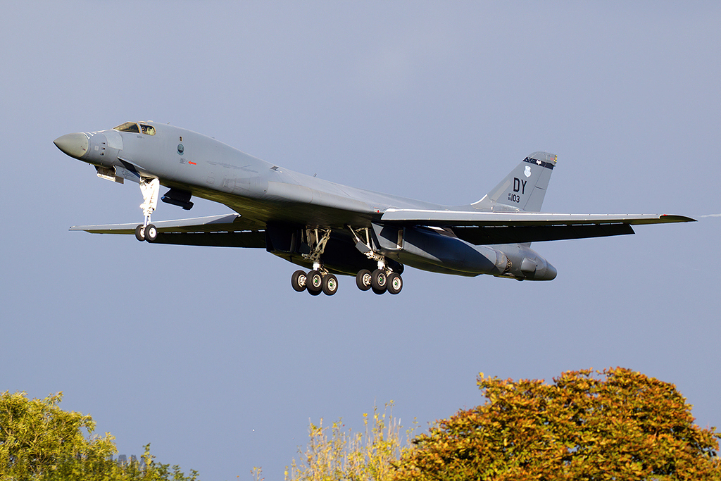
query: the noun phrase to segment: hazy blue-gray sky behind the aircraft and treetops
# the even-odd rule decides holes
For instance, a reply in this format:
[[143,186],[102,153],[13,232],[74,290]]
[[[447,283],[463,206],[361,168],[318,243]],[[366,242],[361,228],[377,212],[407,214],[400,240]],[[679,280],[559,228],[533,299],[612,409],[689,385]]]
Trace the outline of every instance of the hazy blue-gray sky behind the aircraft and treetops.
[[[422,425],[479,371],[624,366],[721,426],[718,2],[6,2],[0,391],[91,414],[121,454],[266,478],[310,420]],[[288,169],[444,204],[558,155],[544,210],[694,224],[534,244],[551,282],[408,269],[399,296],[291,289],[264,250],[69,232],[142,221],[65,133],[168,122]],[[164,191],[164,190],[163,190]],[[197,200],[194,216],[229,208]],[[154,220],[187,212],[161,203]]]

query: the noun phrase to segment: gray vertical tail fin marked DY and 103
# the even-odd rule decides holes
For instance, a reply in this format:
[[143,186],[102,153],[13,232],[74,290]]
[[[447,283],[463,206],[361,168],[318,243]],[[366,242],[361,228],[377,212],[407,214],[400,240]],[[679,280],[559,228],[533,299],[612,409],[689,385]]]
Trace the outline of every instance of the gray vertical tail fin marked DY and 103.
[[534,152],[472,206],[484,211],[540,212],[556,158],[548,152]]

